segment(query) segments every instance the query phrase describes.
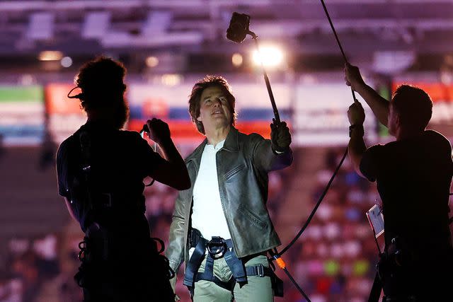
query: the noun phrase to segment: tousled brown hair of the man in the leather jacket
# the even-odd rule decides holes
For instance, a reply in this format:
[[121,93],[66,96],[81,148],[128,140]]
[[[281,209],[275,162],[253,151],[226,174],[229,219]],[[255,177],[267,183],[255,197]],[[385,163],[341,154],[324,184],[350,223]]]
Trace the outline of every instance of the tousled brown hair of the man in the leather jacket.
[[234,110],[234,105],[236,104],[236,98],[231,90],[231,86],[229,86],[228,81],[224,79],[222,76],[205,76],[200,81],[197,81],[192,88],[192,93],[190,93],[189,98],[189,113],[192,121],[197,126],[198,132],[201,134],[205,134],[205,127],[203,127],[202,122],[197,120],[197,117],[200,116],[200,99],[203,91],[209,87],[219,87],[222,88],[224,93],[226,93],[226,98],[228,99],[229,108],[231,112],[231,125],[233,126],[236,122],[237,113]]

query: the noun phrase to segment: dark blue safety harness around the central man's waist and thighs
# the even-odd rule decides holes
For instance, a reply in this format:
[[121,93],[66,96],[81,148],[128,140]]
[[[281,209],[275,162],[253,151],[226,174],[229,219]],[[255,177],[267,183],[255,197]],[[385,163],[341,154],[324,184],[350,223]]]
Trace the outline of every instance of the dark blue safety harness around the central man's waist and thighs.
[[[190,247],[195,248],[195,250],[185,269],[184,285],[188,286],[192,294],[195,282],[200,280],[212,281],[218,286],[232,291],[236,281],[239,283],[246,282],[247,276],[270,277],[273,275],[273,270],[263,265],[244,267],[243,262],[239,260],[234,252],[231,239],[224,240],[220,237],[212,237],[211,240],[207,240],[201,236],[200,231],[193,228],[190,232]],[[206,249],[208,250],[207,255],[205,255]],[[198,269],[205,256],[205,271],[199,274]],[[224,257],[233,274],[233,278],[228,282],[221,281],[213,274],[214,260],[222,257]]]

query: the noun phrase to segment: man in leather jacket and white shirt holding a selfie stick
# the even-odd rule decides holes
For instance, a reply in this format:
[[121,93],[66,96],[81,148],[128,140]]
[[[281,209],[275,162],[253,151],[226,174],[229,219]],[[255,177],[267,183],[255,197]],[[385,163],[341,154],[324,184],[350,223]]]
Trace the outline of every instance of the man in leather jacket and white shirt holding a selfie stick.
[[[280,239],[266,208],[268,172],[292,163],[291,135],[275,121],[271,139],[239,132],[234,104],[220,76],[206,76],[190,95],[190,116],[206,139],[185,159],[191,187],[176,199],[166,256],[175,272],[185,262],[184,284],[194,301],[273,301],[263,269],[269,270],[266,251]],[[205,245],[194,263],[200,240]],[[223,252],[205,250],[219,245]],[[176,277],[171,281],[174,289]]]

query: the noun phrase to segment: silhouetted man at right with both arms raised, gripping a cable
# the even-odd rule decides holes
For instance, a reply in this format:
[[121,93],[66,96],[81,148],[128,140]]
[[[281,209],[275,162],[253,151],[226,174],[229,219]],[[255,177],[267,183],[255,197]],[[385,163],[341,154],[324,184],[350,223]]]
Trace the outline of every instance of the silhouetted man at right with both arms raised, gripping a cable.
[[377,270],[383,301],[452,301],[452,147],[442,134],[425,129],[432,101],[420,88],[403,85],[388,102],[350,64],[345,81],[396,137],[367,149],[365,112],[358,102],[350,106],[350,160],[359,175],[377,182],[382,199],[385,250]]

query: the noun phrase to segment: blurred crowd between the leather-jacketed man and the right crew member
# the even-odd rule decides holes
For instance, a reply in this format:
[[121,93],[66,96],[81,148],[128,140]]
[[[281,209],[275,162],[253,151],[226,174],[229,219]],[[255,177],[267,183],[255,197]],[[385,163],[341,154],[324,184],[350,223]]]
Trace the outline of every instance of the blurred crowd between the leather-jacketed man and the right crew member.
[[[333,175],[345,148],[332,148],[314,175],[311,208]],[[288,250],[294,279],[313,302],[367,301],[378,250],[365,212],[379,204],[376,186],[357,175],[345,159],[301,239]],[[379,238],[379,244],[382,238]],[[285,278],[285,301],[305,301]]]

